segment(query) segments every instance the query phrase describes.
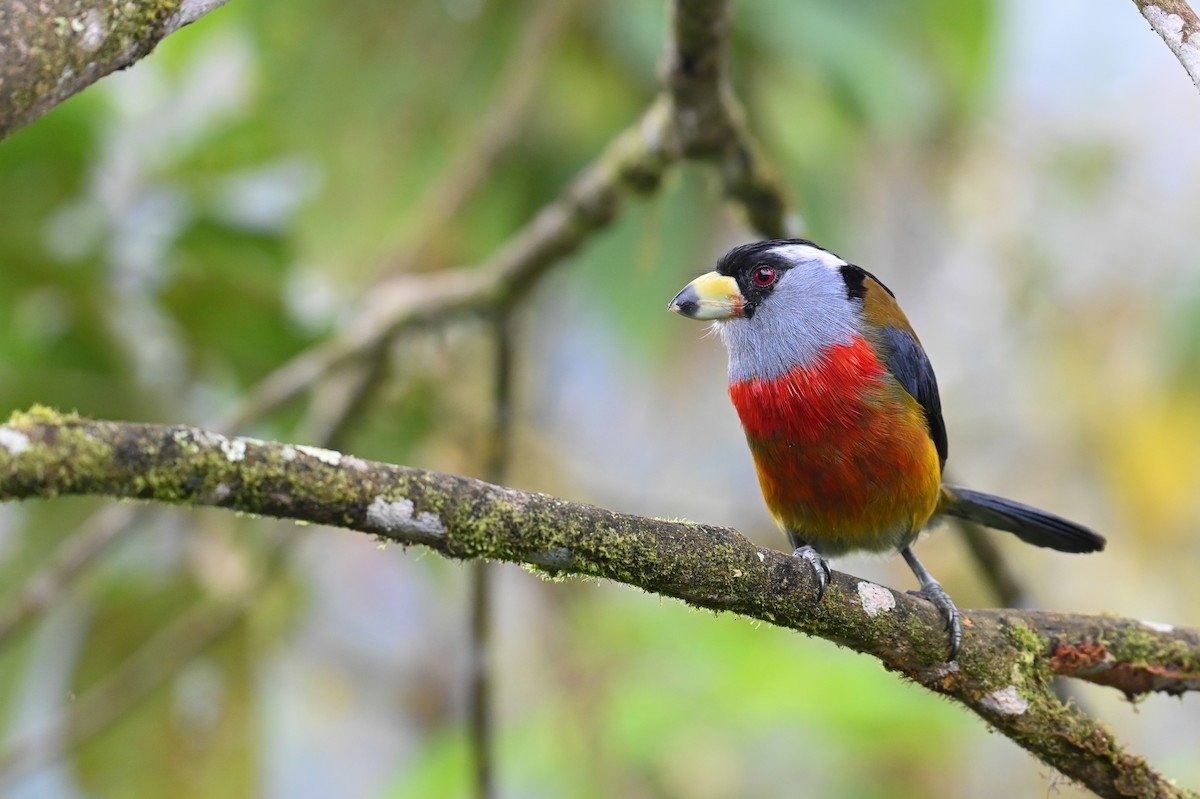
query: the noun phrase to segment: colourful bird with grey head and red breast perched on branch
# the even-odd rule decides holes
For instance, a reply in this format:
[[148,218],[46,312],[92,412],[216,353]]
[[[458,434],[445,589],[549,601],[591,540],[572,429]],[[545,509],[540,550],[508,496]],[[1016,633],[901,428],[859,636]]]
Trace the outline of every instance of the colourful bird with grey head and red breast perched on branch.
[[946,619],[958,607],[913,543],[954,516],[1060,552],[1098,552],[1093,530],[1012,499],[942,481],[948,453],[937,379],[895,295],[875,275],[806,239],[730,250],[667,306],[713,323],[728,350],[728,392],[763,499],[816,572],[826,557],[899,552]]

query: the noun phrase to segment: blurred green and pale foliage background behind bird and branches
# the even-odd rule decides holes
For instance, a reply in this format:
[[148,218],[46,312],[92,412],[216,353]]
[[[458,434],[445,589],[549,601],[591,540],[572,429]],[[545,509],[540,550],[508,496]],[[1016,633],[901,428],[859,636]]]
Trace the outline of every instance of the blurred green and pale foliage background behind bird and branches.
[[[0,144],[0,408],[227,416],[382,276],[494,252],[654,96],[665,31],[664,4],[635,0],[205,17]],[[1200,624],[1200,96],[1134,4],[743,2],[733,36],[805,234],[876,272],[919,331],[955,480],[1109,536],[1092,557],[1000,540],[1030,602]],[[439,220],[497,125],[516,136]],[[720,344],[665,312],[751,235],[689,166],[556,268],[514,319],[504,480],[782,547]],[[338,446],[482,475],[494,350],[478,320],[403,337]],[[305,441],[337,390],[250,432]],[[108,507],[0,506],[0,602]],[[995,603],[956,535],[919,552],[960,606]],[[898,560],[835,565],[913,587]],[[1079,793],[827,642],[492,573],[500,795]],[[367,536],[139,516],[4,641],[5,795],[470,795],[468,596],[463,565]],[[163,631],[197,608],[232,609],[172,662],[186,647]],[[152,641],[146,696],[84,702]],[[1196,696],[1074,690],[1200,785]],[[30,751],[42,764],[17,769]]]

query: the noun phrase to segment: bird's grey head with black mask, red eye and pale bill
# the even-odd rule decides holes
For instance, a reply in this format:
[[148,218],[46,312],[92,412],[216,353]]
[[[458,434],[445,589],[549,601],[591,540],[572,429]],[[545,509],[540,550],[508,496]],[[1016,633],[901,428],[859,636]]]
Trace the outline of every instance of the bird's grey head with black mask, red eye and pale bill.
[[865,277],[811,241],[758,241],[725,253],[668,310],[714,323],[732,380],[770,379],[863,335]]

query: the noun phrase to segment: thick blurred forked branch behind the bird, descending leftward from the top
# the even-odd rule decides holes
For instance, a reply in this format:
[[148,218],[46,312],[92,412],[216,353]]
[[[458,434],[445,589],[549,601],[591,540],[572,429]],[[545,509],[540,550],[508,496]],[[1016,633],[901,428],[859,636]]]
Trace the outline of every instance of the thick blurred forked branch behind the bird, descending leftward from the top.
[[787,202],[757,154],[726,84],[728,14],[727,2],[673,4],[665,92],[638,121],[613,137],[554,203],[479,266],[443,269],[427,278],[401,276],[377,287],[356,325],[272,372],[229,426],[240,427],[247,416],[270,413],[346,359],[406,330],[445,324],[462,313],[511,307],[556,264],[610,224],[622,203],[656,190],[666,170],[684,158],[715,158],[726,193],[751,227],[764,238],[786,235]]

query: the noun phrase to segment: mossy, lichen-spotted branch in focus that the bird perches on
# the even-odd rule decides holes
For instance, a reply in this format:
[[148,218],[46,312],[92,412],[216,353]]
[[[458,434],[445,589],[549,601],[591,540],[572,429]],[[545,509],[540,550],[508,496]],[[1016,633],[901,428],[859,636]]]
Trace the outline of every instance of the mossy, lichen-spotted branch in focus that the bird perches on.
[[970,708],[1105,797],[1189,795],[1050,691],[1055,674],[1126,693],[1200,687],[1200,632],[1115,617],[965,611],[962,655],[924,600],[811,570],[726,528],[617,513],[479,480],[194,427],[35,408],[0,426],[0,500],[101,494],[343,527],[457,559],[605,577],[826,638]]

